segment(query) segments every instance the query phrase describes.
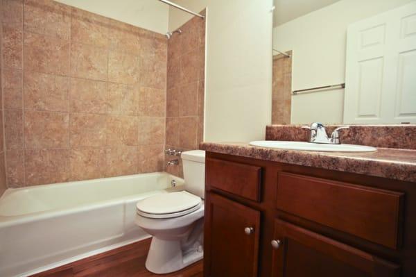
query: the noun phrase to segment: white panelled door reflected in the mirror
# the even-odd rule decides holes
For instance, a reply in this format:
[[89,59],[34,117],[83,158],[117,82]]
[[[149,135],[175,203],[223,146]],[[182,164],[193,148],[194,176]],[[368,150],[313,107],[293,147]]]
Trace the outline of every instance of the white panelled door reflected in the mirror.
[[416,123],[416,1],[348,26],[344,123]]

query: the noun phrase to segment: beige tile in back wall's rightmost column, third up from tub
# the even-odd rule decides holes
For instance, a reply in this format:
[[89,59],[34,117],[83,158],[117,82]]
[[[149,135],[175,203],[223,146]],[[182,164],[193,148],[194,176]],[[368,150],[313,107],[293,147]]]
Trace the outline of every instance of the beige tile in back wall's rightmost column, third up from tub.
[[166,112],[166,92],[149,87],[140,88],[139,115],[164,117]]

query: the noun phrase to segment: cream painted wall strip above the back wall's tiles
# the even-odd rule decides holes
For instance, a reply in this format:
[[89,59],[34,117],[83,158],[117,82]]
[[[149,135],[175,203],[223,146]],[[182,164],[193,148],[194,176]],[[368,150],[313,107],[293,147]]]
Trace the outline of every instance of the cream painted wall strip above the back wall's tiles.
[[157,0],[56,0],[134,26],[165,34],[169,7]]

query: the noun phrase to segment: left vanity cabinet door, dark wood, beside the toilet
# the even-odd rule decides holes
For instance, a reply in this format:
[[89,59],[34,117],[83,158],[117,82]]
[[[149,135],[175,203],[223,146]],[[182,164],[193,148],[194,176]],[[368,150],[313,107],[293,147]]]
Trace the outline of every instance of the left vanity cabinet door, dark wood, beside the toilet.
[[260,212],[212,193],[207,203],[205,276],[257,276]]

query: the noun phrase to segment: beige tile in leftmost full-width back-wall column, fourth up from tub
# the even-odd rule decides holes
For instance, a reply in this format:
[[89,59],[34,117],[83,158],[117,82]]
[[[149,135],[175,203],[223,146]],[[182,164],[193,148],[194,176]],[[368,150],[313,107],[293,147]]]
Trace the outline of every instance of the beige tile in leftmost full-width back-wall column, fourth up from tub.
[[69,44],[69,40],[25,32],[25,70],[68,76]]

